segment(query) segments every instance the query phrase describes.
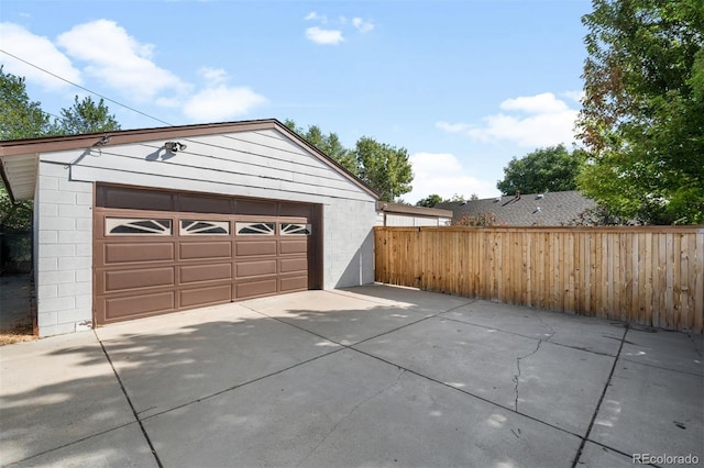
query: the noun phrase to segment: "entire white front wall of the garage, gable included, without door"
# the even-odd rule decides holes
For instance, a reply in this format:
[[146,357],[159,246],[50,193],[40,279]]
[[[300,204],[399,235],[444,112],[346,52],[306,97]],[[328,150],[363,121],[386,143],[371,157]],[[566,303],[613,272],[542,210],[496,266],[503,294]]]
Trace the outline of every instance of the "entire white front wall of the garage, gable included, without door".
[[[172,138],[169,138],[172,140]],[[42,336],[92,326],[94,182],[323,207],[323,287],[374,281],[373,196],[277,131],[164,141],[40,155],[35,224]]]

